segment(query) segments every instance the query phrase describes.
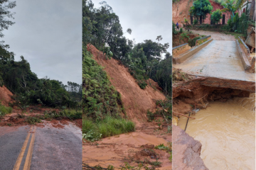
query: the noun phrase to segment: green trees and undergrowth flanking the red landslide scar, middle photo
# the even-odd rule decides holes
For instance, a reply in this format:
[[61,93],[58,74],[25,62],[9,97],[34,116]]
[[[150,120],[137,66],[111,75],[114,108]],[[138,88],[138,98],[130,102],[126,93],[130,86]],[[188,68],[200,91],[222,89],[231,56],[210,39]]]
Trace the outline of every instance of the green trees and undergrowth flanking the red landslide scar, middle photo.
[[124,34],[131,34],[132,29],[123,32],[119,17],[105,1],[100,3],[100,8],[94,8],[90,0],[82,3],[82,132],[85,140],[94,141],[132,132],[134,123],[125,119],[121,95],[110,84],[102,67],[92,59],[87,45],[94,45],[107,59],[113,57],[122,62],[142,89],[149,85],[146,79],[151,78],[170,96],[171,54],[167,52],[169,43],[160,43],[161,35],[156,41],[144,40],[137,44],[125,38]]

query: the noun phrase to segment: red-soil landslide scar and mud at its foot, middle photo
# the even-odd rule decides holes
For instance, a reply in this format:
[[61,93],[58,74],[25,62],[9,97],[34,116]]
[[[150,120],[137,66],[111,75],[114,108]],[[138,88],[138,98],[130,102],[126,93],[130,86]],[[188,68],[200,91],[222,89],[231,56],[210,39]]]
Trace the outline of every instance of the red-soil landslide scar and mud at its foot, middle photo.
[[[100,142],[86,142],[82,149],[82,162],[84,168],[101,166],[107,168],[110,164],[115,168],[138,167],[140,163],[157,169],[171,169],[170,154],[164,150],[155,149],[156,145],[167,145],[171,142],[171,132],[164,126],[163,118],[156,118],[159,122],[147,122],[146,112],[156,110],[156,100],[164,100],[161,88],[156,82],[149,79],[151,86],[141,89],[136,80],[117,60],[106,60],[105,55],[93,45],[87,50],[92,52],[94,59],[100,64],[111,84],[122,96],[122,103],[127,117],[136,123],[136,132],[107,137]],[[162,123],[161,128],[157,125]],[[86,168],[85,168],[86,169]]]

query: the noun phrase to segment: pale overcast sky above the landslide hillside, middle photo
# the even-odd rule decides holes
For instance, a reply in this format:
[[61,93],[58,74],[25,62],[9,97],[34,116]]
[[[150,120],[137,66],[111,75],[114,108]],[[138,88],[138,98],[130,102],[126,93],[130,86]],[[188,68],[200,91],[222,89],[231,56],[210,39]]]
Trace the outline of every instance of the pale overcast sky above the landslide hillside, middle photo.
[[[100,7],[102,0],[92,0],[95,7]],[[171,32],[171,0],[105,0],[114,13],[119,16],[119,21],[125,33],[127,28],[132,29],[132,35],[125,33],[125,37],[136,43],[144,40],[156,41],[161,35],[162,44],[169,42],[171,53],[172,32]]]

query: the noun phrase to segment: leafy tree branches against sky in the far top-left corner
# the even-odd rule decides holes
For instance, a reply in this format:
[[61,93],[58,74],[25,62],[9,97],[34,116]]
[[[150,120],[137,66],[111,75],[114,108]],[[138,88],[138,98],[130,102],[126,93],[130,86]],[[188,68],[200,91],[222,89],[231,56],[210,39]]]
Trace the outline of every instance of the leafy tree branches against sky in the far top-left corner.
[[[14,8],[15,6],[16,6],[16,1],[9,1],[9,0],[0,1],[0,38],[4,37],[4,34],[2,33],[3,30],[7,30],[9,26],[12,26],[14,24],[13,21],[10,21],[6,18],[14,18],[13,16],[15,13],[11,13],[9,9]],[[6,48],[6,46],[4,46],[4,41],[0,42],[0,46],[2,48]]]

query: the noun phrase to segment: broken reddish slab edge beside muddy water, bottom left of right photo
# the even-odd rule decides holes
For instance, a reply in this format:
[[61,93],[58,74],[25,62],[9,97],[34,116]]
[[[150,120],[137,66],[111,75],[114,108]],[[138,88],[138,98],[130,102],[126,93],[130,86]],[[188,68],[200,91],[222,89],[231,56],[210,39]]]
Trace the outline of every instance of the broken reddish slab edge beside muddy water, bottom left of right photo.
[[176,125],[172,128],[173,135],[173,169],[176,170],[208,170],[200,157],[201,143],[194,140]]

